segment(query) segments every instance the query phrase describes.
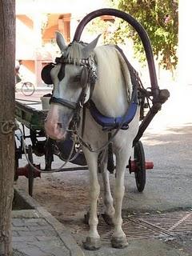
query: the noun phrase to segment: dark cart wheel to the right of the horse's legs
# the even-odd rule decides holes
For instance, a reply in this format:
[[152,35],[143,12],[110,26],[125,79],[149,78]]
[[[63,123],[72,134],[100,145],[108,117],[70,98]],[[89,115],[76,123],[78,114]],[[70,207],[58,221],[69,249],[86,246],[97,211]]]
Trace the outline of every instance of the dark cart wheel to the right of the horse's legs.
[[139,192],[144,190],[146,185],[146,158],[142,142],[136,142],[134,145],[134,161],[137,163],[137,170],[134,172],[136,185]]

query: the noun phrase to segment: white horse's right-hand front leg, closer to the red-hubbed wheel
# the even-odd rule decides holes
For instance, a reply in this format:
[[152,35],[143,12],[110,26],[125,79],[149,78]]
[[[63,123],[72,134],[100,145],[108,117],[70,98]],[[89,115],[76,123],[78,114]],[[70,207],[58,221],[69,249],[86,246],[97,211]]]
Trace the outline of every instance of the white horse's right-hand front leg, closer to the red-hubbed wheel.
[[115,248],[124,248],[128,245],[126,234],[122,231],[122,199],[125,192],[124,178],[128,152],[119,151],[116,155],[116,176],[114,185],[114,234],[111,244]]

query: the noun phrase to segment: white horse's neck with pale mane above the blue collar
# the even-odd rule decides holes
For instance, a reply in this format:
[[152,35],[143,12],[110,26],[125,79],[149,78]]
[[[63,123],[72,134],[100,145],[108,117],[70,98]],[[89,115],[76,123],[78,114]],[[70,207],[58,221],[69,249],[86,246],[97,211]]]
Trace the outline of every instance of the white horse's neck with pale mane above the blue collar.
[[125,79],[114,47],[100,46],[95,50],[98,62],[98,81],[93,101],[98,110],[110,117],[125,114],[128,108]]

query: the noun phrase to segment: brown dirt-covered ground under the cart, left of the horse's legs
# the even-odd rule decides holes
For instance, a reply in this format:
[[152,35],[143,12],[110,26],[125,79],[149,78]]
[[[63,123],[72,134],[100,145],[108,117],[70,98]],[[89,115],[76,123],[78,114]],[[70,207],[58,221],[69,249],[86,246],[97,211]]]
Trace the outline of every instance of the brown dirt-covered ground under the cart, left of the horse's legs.
[[[28,190],[28,180],[19,177],[17,186]],[[83,218],[89,209],[88,170],[42,174],[34,179],[33,198],[62,223]]]

